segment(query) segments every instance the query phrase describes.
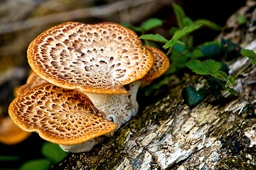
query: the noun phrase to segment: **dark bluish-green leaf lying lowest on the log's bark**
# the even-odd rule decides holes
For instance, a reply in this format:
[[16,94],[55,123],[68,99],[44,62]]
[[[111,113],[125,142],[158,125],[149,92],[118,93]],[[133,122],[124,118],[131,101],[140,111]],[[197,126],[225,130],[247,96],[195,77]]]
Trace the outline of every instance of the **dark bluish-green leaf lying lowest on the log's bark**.
[[204,88],[200,88],[197,91],[195,87],[187,86],[181,91],[181,96],[184,99],[184,103],[191,107],[203,101],[208,96],[208,92]]

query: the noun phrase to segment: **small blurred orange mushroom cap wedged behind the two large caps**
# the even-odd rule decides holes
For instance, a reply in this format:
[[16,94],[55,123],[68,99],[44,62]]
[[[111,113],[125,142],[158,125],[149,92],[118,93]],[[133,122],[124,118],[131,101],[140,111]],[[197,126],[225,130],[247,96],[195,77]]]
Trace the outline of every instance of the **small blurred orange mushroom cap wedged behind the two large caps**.
[[28,79],[26,81],[26,84],[18,87],[16,89],[15,94],[18,96],[18,94],[21,94],[23,91],[26,91],[28,89],[31,89],[33,86],[37,86],[39,84],[47,84],[48,82],[45,81],[44,79],[41,79],[41,77],[38,77],[35,72],[31,72],[29,74]]

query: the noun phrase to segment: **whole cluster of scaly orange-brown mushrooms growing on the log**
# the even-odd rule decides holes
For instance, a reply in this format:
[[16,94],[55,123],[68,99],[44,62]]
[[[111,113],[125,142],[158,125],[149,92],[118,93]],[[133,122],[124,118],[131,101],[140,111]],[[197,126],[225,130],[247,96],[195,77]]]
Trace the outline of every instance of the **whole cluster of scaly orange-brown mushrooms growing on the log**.
[[164,52],[142,45],[117,23],[63,23],[28,46],[33,72],[9,106],[21,129],[65,152],[86,152],[138,111],[137,90],[169,67]]

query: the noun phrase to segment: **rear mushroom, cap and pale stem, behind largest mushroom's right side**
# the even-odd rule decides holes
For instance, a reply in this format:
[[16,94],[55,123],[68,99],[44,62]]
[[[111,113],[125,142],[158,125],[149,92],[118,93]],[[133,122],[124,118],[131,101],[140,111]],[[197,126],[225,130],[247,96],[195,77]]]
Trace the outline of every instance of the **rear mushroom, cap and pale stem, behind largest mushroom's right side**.
[[139,109],[139,105],[137,103],[137,91],[139,87],[149,85],[151,81],[158,77],[161,77],[161,75],[164,74],[164,72],[166,72],[170,66],[169,58],[166,56],[166,54],[164,54],[164,52],[162,52],[156,47],[145,47],[151,50],[151,52],[153,52],[154,65],[153,67],[151,67],[151,69],[149,70],[145,77],[127,85],[127,88],[129,89],[128,91],[130,95],[131,107],[134,108],[133,113],[137,113]]

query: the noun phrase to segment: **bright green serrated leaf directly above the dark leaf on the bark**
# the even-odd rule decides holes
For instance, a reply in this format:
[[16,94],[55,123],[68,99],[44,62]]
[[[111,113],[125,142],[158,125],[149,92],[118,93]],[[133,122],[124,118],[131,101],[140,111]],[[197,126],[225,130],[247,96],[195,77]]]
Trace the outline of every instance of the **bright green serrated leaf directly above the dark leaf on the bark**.
[[191,62],[188,62],[187,66],[192,70],[192,72],[195,72],[196,74],[212,75],[220,69],[222,64],[214,60],[206,60],[205,62],[192,60]]

